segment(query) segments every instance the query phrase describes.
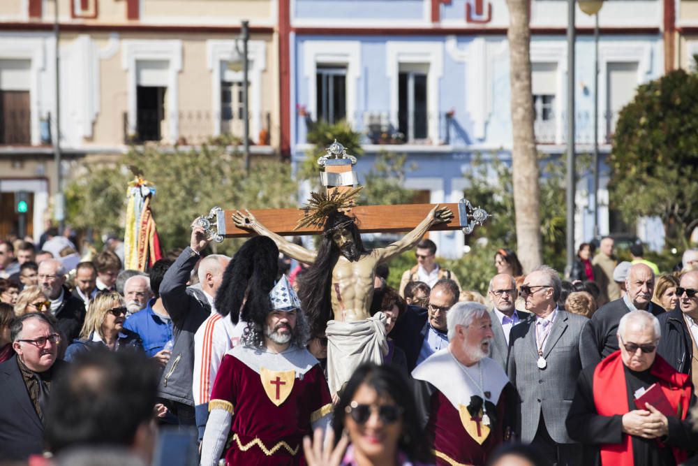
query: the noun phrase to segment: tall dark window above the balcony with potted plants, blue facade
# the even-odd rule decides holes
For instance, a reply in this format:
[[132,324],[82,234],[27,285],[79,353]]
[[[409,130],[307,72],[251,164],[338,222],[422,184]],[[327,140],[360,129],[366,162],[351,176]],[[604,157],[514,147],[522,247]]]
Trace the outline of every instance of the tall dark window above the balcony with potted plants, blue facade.
[[398,131],[408,142],[424,140],[429,135],[426,78],[429,66],[401,64],[398,75]]

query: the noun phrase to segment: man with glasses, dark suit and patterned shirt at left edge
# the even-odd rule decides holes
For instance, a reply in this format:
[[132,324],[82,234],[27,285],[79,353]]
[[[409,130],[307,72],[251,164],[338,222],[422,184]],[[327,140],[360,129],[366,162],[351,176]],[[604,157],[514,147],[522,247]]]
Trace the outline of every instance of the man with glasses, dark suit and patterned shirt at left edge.
[[17,317],[10,326],[15,356],[0,364],[0,462],[24,460],[43,451],[43,430],[60,337],[38,312]]

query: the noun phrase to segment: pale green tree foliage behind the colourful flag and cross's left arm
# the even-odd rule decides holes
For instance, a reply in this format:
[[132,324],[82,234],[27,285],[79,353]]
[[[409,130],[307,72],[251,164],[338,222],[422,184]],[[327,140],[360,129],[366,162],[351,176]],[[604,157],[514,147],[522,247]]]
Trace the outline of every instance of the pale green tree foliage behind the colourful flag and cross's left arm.
[[[108,228],[122,234],[126,183],[133,179],[127,166],[138,167],[156,186],[152,209],[165,251],[188,245],[191,221],[207,215],[215,205],[223,209],[297,205],[297,185],[290,177],[288,163],[253,159],[246,175],[242,154],[225,145],[186,151],[146,146],[132,148],[112,168],[91,170],[73,181],[68,221],[79,228]],[[239,242],[225,240],[215,249],[230,254]]]

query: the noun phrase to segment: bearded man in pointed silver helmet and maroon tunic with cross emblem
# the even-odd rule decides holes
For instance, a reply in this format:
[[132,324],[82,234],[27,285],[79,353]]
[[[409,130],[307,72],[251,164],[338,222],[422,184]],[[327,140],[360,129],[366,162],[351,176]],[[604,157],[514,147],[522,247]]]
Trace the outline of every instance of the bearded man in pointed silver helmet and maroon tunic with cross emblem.
[[243,308],[242,345],[223,356],[201,465],[218,465],[224,452],[228,465],[299,465],[303,437],[329,423],[327,382],[305,349],[308,324],[285,275],[269,298],[270,309]]

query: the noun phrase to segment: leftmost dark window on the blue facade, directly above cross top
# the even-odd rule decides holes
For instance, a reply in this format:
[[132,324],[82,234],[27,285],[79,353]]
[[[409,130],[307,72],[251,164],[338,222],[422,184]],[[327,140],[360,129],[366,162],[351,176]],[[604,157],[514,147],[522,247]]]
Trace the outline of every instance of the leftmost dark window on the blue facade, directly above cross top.
[[343,66],[318,66],[315,75],[318,108],[315,115],[327,123],[334,124],[347,117],[346,79]]

